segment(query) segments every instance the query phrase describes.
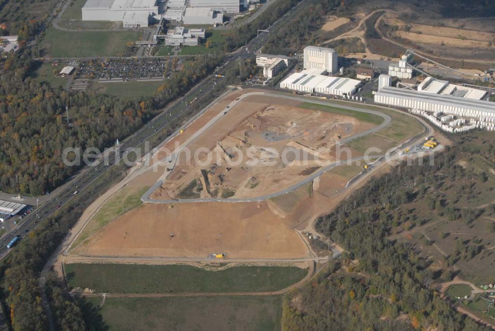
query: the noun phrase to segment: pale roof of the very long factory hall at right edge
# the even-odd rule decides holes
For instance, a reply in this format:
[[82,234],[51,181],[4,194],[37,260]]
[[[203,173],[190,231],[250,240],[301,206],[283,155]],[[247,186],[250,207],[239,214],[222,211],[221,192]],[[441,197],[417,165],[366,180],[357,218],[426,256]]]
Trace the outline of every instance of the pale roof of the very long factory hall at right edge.
[[432,94],[428,92],[386,86],[375,94],[375,100],[376,97],[391,97],[418,102],[429,102],[451,108],[481,111],[486,115],[495,116],[495,102],[459,98],[450,94]]

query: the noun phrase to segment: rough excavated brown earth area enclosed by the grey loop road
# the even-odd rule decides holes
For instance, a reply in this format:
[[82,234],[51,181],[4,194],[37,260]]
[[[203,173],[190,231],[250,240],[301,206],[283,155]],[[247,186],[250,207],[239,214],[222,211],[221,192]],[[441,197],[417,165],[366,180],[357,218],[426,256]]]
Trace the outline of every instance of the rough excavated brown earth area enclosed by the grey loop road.
[[[212,151],[213,162],[205,162],[206,155],[200,154],[204,164],[194,160],[188,164],[187,154],[181,153],[152,199],[225,198],[225,192],[234,198],[252,198],[273,193],[316,171],[315,155],[322,162],[335,161],[331,154],[338,136],[371,127],[352,117],[297,108],[297,101],[267,96],[244,100],[188,146],[191,155],[204,148]],[[268,148],[278,157],[270,157]],[[288,148],[284,162],[281,157]],[[260,162],[250,165],[252,158]]]

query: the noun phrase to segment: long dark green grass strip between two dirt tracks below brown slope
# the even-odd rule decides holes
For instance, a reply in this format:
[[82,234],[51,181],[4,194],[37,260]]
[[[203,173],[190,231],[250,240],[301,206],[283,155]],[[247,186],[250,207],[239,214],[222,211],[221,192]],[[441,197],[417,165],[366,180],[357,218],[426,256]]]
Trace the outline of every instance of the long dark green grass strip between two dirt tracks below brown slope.
[[68,264],[71,287],[107,293],[253,292],[283,289],[304,278],[297,267],[240,266],[209,271],[186,265]]

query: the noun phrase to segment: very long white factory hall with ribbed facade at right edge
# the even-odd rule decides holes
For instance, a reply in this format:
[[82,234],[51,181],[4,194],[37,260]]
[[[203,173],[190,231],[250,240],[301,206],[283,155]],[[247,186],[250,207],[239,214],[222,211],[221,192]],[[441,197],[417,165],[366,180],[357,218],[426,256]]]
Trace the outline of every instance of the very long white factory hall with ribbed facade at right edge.
[[495,117],[495,103],[475,99],[459,98],[450,94],[384,87],[375,94],[378,104],[424,110],[434,113],[453,114],[480,119]]

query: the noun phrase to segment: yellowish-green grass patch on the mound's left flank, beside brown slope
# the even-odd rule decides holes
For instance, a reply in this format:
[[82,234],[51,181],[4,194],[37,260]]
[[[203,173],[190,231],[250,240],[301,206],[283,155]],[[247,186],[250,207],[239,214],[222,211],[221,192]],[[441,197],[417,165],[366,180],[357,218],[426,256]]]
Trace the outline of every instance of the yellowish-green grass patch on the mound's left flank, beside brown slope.
[[106,201],[93,218],[86,224],[84,230],[74,241],[72,247],[76,247],[86,240],[91,234],[115,220],[118,216],[141,205],[141,197],[148,190],[146,187],[125,187]]

